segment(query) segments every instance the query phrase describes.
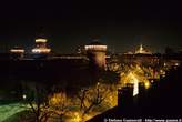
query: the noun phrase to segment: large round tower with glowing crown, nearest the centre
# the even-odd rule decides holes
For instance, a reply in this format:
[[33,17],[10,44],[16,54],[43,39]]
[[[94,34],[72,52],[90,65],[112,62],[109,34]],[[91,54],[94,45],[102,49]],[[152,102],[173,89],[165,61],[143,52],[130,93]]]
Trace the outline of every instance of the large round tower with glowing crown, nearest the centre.
[[93,41],[84,47],[91,64],[98,68],[105,68],[107,45],[98,41]]

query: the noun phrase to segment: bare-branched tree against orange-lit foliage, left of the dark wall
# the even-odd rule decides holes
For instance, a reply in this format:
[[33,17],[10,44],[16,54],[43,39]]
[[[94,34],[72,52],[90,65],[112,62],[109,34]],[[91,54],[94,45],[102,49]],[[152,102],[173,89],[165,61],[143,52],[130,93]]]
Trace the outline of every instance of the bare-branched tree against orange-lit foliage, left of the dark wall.
[[109,93],[109,85],[100,82],[94,87],[82,89],[78,94],[81,118],[84,120],[85,114],[94,112],[94,108],[101,105]]

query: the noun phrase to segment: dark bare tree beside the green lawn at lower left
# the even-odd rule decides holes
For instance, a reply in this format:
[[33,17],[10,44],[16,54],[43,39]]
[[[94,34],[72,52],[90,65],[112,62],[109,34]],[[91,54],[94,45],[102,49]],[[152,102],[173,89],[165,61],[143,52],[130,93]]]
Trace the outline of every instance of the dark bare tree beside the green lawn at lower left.
[[23,84],[23,99],[28,109],[34,116],[36,122],[46,122],[50,112],[48,111],[48,91],[40,83]]

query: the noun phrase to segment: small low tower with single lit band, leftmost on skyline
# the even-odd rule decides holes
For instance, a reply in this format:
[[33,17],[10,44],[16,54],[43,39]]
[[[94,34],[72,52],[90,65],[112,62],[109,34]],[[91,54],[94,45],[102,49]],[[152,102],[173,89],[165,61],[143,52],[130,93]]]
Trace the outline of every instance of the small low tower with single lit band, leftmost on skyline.
[[20,47],[14,47],[10,50],[12,59],[22,59],[24,55],[24,50]]

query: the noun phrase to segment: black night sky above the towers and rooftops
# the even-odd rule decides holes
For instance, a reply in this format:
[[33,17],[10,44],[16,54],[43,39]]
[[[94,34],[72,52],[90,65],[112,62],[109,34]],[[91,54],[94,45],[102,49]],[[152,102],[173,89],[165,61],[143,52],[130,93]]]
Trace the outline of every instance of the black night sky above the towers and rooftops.
[[55,52],[73,52],[91,38],[117,52],[132,51],[140,43],[154,52],[182,49],[180,2],[127,1],[1,3],[0,51],[13,45],[30,50],[42,30]]

